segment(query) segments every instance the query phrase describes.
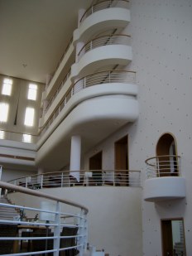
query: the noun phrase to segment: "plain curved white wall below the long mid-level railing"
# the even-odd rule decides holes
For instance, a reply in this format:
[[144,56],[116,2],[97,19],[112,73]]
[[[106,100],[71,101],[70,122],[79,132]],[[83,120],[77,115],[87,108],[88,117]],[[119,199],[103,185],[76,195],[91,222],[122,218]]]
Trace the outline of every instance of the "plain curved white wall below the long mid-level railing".
[[[58,198],[79,202],[89,209],[89,244],[110,256],[142,255],[142,189],[131,187],[70,187],[43,189]],[[40,205],[41,198],[9,196],[21,205]],[[65,212],[67,208],[65,208]]]

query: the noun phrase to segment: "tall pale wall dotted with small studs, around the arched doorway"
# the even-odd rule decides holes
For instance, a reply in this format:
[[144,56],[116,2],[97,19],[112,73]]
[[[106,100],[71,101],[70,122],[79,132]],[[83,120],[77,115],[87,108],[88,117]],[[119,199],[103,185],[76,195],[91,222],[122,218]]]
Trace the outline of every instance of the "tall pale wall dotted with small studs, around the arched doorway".
[[113,134],[85,157],[103,150],[103,169],[114,167],[114,142],[129,135],[130,169],[141,169],[155,157],[162,133],[172,133],[186,177],[187,197],[158,204],[143,202],[143,255],[161,256],[161,219],[184,218],[187,254],[192,254],[192,1],[132,0],[131,22],[124,30],[132,36],[132,63],[137,71],[140,114],[137,122]]

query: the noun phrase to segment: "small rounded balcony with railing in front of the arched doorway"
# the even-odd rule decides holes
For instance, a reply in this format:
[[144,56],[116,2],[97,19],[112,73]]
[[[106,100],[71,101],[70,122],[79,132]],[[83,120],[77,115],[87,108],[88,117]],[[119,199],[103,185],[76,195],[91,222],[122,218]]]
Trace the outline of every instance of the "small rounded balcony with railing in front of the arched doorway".
[[151,157],[146,160],[144,200],[156,202],[185,198],[185,178],[180,176],[180,157]]

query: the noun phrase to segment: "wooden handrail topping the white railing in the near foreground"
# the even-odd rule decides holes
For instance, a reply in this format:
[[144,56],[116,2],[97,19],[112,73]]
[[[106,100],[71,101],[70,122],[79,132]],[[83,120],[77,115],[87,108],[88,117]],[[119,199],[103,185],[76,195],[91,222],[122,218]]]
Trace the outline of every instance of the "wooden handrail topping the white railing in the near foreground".
[[89,212],[88,208],[86,208],[84,205],[77,204],[74,201],[60,199],[56,196],[50,196],[46,193],[31,190],[31,189],[28,189],[28,188],[25,188],[25,187],[22,187],[22,186],[16,186],[16,185],[9,184],[7,182],[0,181],[0,187],[5,188],[7,190],[11,190],[11,191],[18,191],[18,192],[21,192],[21,193],[24,193],[24,194],[27,194],[27,195],[30,195],[30,196],[38,196],[38,197],[43,197],[43,198],[46,198],[46,199],[49,199],[49,200],[59,201],[60,203],[63,203],[63,204],[71,205],[71,206],[74,206],[74,207],[79,207],[79,208],[83,209],[85,211],[85,213]]

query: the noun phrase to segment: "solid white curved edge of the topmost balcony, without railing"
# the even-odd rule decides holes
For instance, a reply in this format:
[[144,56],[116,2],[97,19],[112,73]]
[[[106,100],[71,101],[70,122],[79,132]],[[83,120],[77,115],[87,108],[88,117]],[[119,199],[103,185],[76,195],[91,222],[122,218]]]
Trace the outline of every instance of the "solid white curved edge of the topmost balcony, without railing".
[[126,27],[130,22],[130,11],[124,8],[113,7],[94,12],[87,17],[79,28],[74,30],[74,44],[77,41],[86,41],[98,31],[111,27]]

